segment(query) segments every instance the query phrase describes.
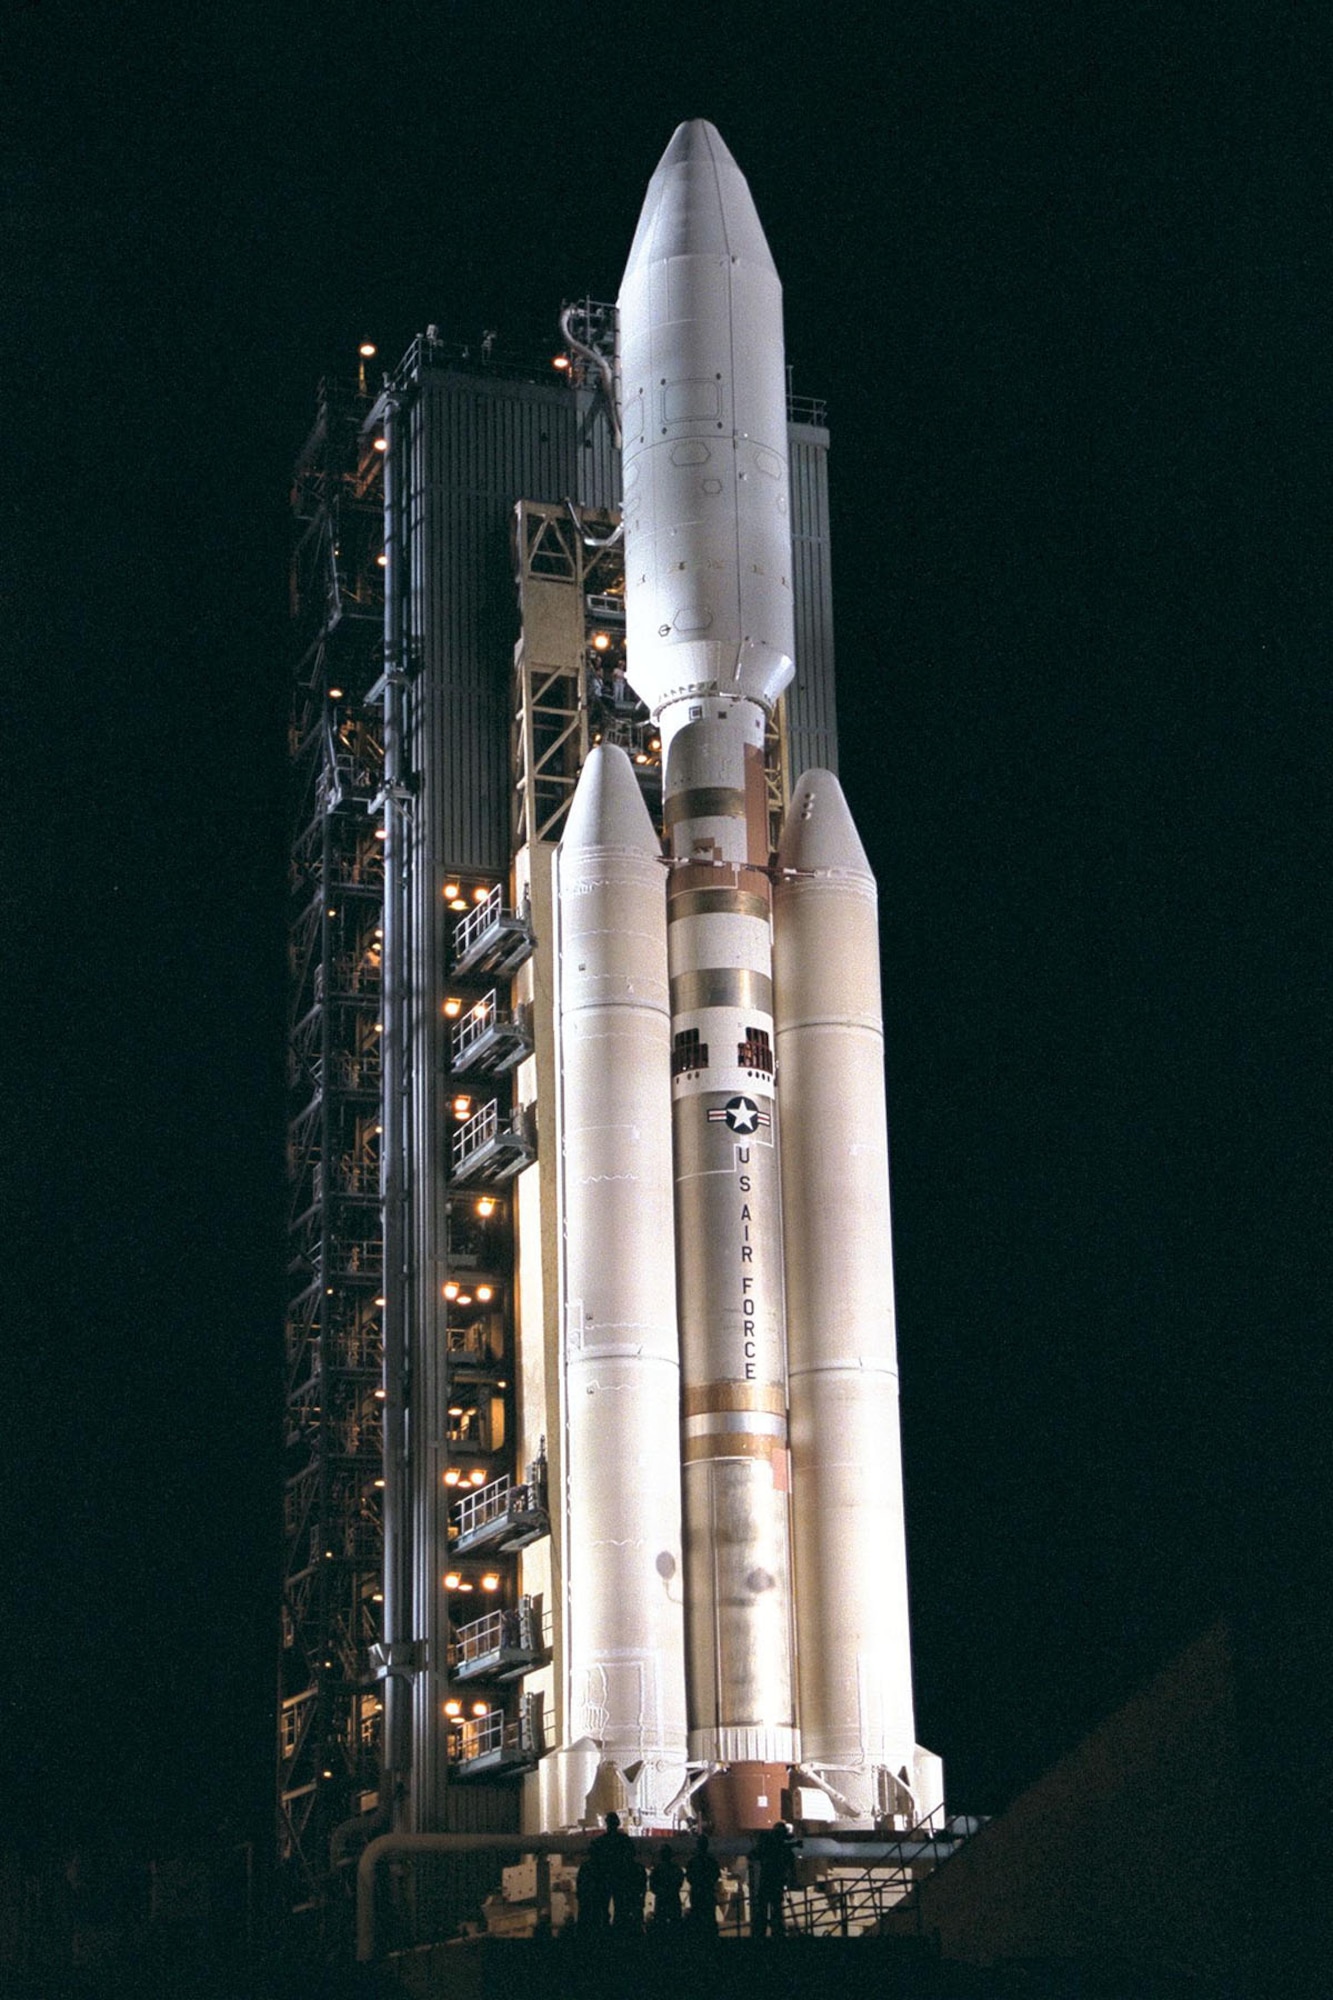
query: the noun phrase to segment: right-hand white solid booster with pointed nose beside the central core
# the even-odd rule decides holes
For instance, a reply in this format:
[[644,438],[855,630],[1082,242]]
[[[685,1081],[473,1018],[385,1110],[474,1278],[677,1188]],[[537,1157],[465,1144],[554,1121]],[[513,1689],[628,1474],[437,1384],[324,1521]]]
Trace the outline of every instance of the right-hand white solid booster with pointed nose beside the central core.
[[875,876],[833,772],[799,780],[775,892],[777,1054],[805,1762],[921,1820],[889,1232]]

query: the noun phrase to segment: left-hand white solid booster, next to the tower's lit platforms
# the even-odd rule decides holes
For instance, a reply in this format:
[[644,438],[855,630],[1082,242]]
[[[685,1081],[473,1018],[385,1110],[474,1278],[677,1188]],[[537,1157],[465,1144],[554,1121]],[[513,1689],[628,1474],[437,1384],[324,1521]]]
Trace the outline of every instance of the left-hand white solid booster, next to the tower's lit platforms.
[[568,1672],[554,1824],[626,1804],[656,1818],[685,1786],[662,874],[630,760],[592,750],[556,854]]

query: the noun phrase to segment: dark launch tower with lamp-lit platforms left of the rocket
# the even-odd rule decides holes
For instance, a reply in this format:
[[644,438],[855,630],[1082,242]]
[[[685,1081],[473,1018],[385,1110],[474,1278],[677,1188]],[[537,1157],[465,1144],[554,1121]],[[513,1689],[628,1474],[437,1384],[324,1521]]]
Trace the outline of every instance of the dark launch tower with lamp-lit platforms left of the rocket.
[[[548,856],[594,742],[660,814],[660,740],[616,674],[618,514],[518,498],[568,484],[546,426],[580,412],[582,452],[588,400],[426,336],[378,398],[320,388],[296,468],[278,1842],[288,1904],[320,1914],[386,1824],[516,1830],[560,1730],[554,1402],[518,1394],[554,1240]],[[458,438],[494,454],[484,506],[516,500],[512,692],[484,728],[458,676],[504,686],[504,514],[474,546]],[[508,824],[468,850],[492,750]]]

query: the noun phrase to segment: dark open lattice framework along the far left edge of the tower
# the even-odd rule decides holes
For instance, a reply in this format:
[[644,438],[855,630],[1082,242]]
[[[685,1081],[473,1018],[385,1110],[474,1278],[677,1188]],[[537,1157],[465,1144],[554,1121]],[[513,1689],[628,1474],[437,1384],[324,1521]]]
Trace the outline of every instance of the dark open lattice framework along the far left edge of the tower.
[[296,468],[278,1850],[292,1906],[378,1784],[382,648],[378,454],[324,382]]

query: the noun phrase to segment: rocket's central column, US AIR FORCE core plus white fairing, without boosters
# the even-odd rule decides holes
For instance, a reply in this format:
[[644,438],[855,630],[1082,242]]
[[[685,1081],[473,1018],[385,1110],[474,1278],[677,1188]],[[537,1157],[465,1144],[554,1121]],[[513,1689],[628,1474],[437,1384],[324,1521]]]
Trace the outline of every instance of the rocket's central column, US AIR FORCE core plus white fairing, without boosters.
[[781,284],[705,120],[648,184],[620,384],[628,680],[671,838],[689,1748],[739,1776],[799,1756],[765,792],[795,638]]

